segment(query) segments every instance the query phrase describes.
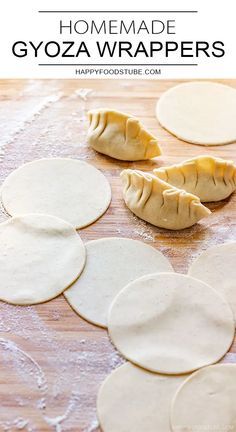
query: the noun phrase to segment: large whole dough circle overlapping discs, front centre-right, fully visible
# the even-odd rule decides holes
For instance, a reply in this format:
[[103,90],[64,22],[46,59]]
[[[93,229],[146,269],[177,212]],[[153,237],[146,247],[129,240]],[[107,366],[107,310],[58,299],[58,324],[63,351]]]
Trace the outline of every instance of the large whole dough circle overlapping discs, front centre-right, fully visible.
[[125,358],[153,372],[179,374],[217,362],[234,338],[228,303],[197,279],[144,276],[115,298],[108,328]]

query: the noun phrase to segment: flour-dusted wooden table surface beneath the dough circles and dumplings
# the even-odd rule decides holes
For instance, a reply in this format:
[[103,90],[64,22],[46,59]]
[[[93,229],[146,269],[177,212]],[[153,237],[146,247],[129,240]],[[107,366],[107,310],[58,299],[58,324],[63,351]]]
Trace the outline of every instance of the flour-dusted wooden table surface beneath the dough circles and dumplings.
[[[221,82],[236,88],[236,80]],[[161,128],[155,118],[155,104],[175,84],[144,80],[0,81],[1,182],[19,165],[37,158],[86,160],[107,176],[112,203],[100,220],[80,231],[82,239],[138,239],[161,250],[177,272],[186,273],[202,250],[236,239],[236,194],[211,204],[212,215],[199,224],[172,232],[131,214],[122,201],[119,178],[123,168],[148,171],[201,154],[236,162],[236,143],[201,147],[182,142]],[[139,117],[159,138],[163,155],[126,163],[94,152],[86,144],[86,111],[97,107]],[[1,212],[1,220],[6,217]],[[106,331],[81,319],[63,296],[34,307],[0,303],[0,309],[0,430],[98,431],[97,390],[122,361]],[[226,361],[236,362],[236,344]]]

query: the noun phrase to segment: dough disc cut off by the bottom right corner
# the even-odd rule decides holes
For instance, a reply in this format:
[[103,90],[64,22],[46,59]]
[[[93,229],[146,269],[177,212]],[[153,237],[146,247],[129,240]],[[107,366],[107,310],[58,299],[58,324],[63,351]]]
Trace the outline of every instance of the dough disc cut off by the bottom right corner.
[[171,409],[172,432],[236,432],[236,365],[208,366],[180,386]]

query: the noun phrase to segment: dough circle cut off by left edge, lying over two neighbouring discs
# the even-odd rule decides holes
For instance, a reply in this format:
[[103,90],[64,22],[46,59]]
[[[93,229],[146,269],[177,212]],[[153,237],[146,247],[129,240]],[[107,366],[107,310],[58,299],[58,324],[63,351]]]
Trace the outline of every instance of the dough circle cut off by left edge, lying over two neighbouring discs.
[[0,224],[0,299],[42,303],[81,273],[85,247],[72,225],[54,216],[16,216]]

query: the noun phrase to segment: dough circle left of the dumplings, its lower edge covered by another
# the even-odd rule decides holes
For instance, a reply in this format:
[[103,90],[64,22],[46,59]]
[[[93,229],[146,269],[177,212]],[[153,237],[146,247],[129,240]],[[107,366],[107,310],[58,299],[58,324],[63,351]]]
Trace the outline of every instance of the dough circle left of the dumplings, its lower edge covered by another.
[[94,166],[76,159],[51,158],[13,171],[3,183],[1,196],[10,215],[51,214],[82,228],[107,210],[111,188]]

